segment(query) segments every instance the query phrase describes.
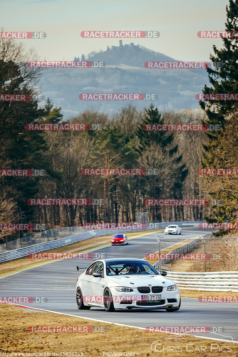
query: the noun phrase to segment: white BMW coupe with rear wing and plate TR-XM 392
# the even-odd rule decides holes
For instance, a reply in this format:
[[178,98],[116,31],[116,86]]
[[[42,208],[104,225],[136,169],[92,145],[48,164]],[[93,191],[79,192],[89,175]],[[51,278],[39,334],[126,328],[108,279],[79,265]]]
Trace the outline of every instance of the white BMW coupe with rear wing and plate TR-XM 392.
[[157,271],[143,259],[115,258],[93,262],[78,277],[76,303],[79,310],[90,307],[115,309],[165,309],[180,308],[178,285],[165,278],[166,271]]

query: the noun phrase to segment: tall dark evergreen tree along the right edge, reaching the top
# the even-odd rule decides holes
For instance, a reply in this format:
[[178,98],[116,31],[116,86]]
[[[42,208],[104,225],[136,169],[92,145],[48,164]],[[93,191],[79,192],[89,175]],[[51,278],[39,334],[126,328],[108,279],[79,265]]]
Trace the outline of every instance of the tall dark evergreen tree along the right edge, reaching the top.
[[[231,32],[231,34],[233,32],[234,35],[234,31],[238,31],[238,0],[229,0],[229,7],[226,6],[226,12],[227,21],[225,29],[226,31]],[[209,82],[212,86],[208,87],[205,85],[203,90],[204,94],[238,93],[238,37],[223,37],[222,42],[224,48],[218,50],[216,46],[213,46],[214,54],[210,56],[210,59],[212,62],[221,62],[223,66],[216,69],[207,68]],[[208,121],[203,122],[203,124],[219,124],[222,126],[221,131],[206,132],[208,142],[206,145],[203,145],[204,152],[201,166],[202,168],[229,168],[226,167],[227,160],[226,157],[223,157],[224,155],[222,155],[223,158],[221,157],[221,152],[224,148],[224,137],[226,136],[230,118],[231,116],[236,116],[238,111],[237,101],[209,100],[208,103],[207,101],[200,101],[199,104],[208,116]],[[225,179],[226,178],[224,177],[224,180]],[[215,177],[204,177],[204,183],[207,186],[207,190],[209,191],[209,196],[211,196],[211,198],[220,198],[219,193],[216,188],[214,188],[214,185],[216,185]],[[212,185],[213,189],[211,188]],[[221,194],[222,192],[220,195]],[[233,200],[232,194],[227,198],[223,198],[223,200],[224,206],[214,207],[213,210],[217,219],[205,217],[208,222],[224,222],[227,218],[230,221],[234,220],[233,213],[236,211],[236,207],[234,207],[234,205],[230,202]],[[218,232],[218,234],[223,233],[224,232]]]

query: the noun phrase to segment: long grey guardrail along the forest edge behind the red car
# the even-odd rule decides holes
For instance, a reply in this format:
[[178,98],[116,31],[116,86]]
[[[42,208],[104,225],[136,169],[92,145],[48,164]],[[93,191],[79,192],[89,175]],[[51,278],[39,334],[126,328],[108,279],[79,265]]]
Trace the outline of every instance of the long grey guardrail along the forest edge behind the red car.
[[[157,222],[157,223],[147,223],[147,228],[143,230],[159,229],[165,228],[169,224],[177,224],[180,227],[198,227],[199,223],[205,223],[205,221],[189,221],[189,222]],[[64,247],[66,245],[76,243],[85,239],[92,237],[100,237],[105,235],[114,235],[118,232],[128,233],[128,232],[140,232],[140,229],[100,229],[100,230],[85,230],[83,233],[75,234],[72,236],[56,239],[54,241],[48,241],[43,243],[38,243],[30,245],[24,248],[14,249],[0,253],[0,263],[9,260],[26,257],[30,253],[42,252],[48,249],[54,249],[59,247]]]

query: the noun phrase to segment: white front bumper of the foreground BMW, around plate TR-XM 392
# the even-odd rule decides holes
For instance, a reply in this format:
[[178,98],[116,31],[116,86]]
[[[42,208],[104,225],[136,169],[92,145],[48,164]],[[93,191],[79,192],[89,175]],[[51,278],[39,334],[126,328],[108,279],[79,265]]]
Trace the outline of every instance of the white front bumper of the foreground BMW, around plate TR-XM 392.
[[[127,309],[127,308],[139,308],[139,309],[165,309],[169,307],[178,307],[180,301],[180,293],[177,287],[176,291],[167,291],[167,287],[161,293],[161,299],[148,303],[142,303],[141,293],[135,289],[133,292],[123,292],[120,293],[115,287],[111,287],[111,293],[113,298],[113,304],[115,309]],[[150,295],[150,294],[149,294]]]

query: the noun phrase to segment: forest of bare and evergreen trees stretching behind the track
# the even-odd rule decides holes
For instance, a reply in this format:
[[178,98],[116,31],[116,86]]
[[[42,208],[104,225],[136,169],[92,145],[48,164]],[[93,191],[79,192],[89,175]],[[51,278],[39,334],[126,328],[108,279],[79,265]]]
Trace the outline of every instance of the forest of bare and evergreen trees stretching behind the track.
[[[238,2],[227,8],[226,30],[238,30]],[[211,88],[204,93],[238,92],[237,38],[224,38],[224,49],[213,47],[208,68]],[[14,40],[0,39],[0,92],[35,94],[41,69],[29,69],[33,49]],[[133,222],[148,211],[149,221],[236,221],[238,186],[235,176],[198,175],[199,168],[238,168],[236,101],[200,102],[201,109],[159,113],[148,105],[122,107],[116,114],[85,111],[71,123],[101,124],[102,130],[28,131],[29,123],[65,122],[61,108],[48,98],[44,107],[36,101],[0,101],[0,168],[44,169],[46,176],[0,177],[0,223],[45,223],[81,226],[85,222]],[[144,124],[220,124],[222,130],[144,131]],[[153,168],[158,175],[84,176],[83,168]],[[90,206],[30,206],[29,198],[91,198],[104,200]],[[148,207],[147,198],[222,199],[220,206]],[[223,234],[220,232],[219,234]],[[24,232],[16,232],[15,236]],[[11,231],[0,231],[1,242]],[[26,232],[25,232],[26,234]],[[29,234],[29,233],[28,233]]]

